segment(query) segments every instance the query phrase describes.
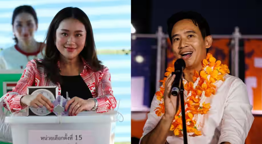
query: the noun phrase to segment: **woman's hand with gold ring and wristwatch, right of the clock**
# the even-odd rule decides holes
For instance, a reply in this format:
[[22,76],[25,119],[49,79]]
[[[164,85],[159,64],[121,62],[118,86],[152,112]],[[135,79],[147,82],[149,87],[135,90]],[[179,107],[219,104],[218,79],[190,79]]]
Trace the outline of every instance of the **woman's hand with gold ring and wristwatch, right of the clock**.
[[[72,104],[68,110],[69,105]],[[76,116],[79,112],[85,110],[91,110],[95,106],[95,102],[92,99],[84,100],[82,98],[73,97],[68,100],[65,105],[65,111],[68,110],[69,116]]]

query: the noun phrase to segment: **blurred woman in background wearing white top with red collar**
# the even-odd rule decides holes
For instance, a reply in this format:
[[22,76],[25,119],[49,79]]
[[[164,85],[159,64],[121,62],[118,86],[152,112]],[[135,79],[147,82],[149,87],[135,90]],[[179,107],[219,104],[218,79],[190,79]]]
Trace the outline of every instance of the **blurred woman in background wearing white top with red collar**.
[[42,58],[40,51],[44,45],[34,38],[38,20],[33,7],[23,5],[15,8],[12,27],[15,45],[0,53],[0,69],[24,69],[29,60]]

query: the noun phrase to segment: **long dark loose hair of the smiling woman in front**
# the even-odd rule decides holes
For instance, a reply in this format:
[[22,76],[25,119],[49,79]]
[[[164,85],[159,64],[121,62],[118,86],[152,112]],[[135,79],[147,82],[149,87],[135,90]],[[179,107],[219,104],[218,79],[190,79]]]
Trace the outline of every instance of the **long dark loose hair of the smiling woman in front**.
[[59,11],[53,18],[45,38],[46,46],[44,59],[42,61],[37,61],[37,67],[43,66],[47,73],[47,77],[54,83],[60,82],[60,70],[57,66],[60,52],[55,46],[56,30],[60,22],[66,18],[75,18],[84,24],[86,29],[86,41],[83,50],[80,52],[80,57],[83,57],[94,71],[102,69],[101,61],[98,60],[96,55],[93,30],[89,18],[79,8],[66,7]]

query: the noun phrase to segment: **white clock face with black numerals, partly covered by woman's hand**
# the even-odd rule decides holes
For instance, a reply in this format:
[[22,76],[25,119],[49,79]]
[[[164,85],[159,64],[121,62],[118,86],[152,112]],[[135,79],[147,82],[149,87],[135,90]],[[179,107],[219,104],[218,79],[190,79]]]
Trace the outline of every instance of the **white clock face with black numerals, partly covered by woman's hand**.
[[[43,94],[43,96],[45,96],[51,102],[55,100],[55,96],[53,95],[53,93],[47,89],[37,89],[34,92],[32,92],[31,95],[37,95],[37,94]],[[43,106],[43,108],[40,108],[40,107],[32,108],[31,107],[30,110],[38,116],[46,116],[51,113],[49,110],[47,110],[45,106]]]

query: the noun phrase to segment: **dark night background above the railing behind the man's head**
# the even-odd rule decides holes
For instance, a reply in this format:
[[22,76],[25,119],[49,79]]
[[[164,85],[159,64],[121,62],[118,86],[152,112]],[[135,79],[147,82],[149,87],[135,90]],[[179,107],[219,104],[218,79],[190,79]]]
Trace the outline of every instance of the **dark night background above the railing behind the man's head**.
[[196,11],[206,18],[211,34],[262,34],[262,1],[132,0],[131,23],[136,33],[155,33],[158,26],[167,33],[166,20],[179,11]]

